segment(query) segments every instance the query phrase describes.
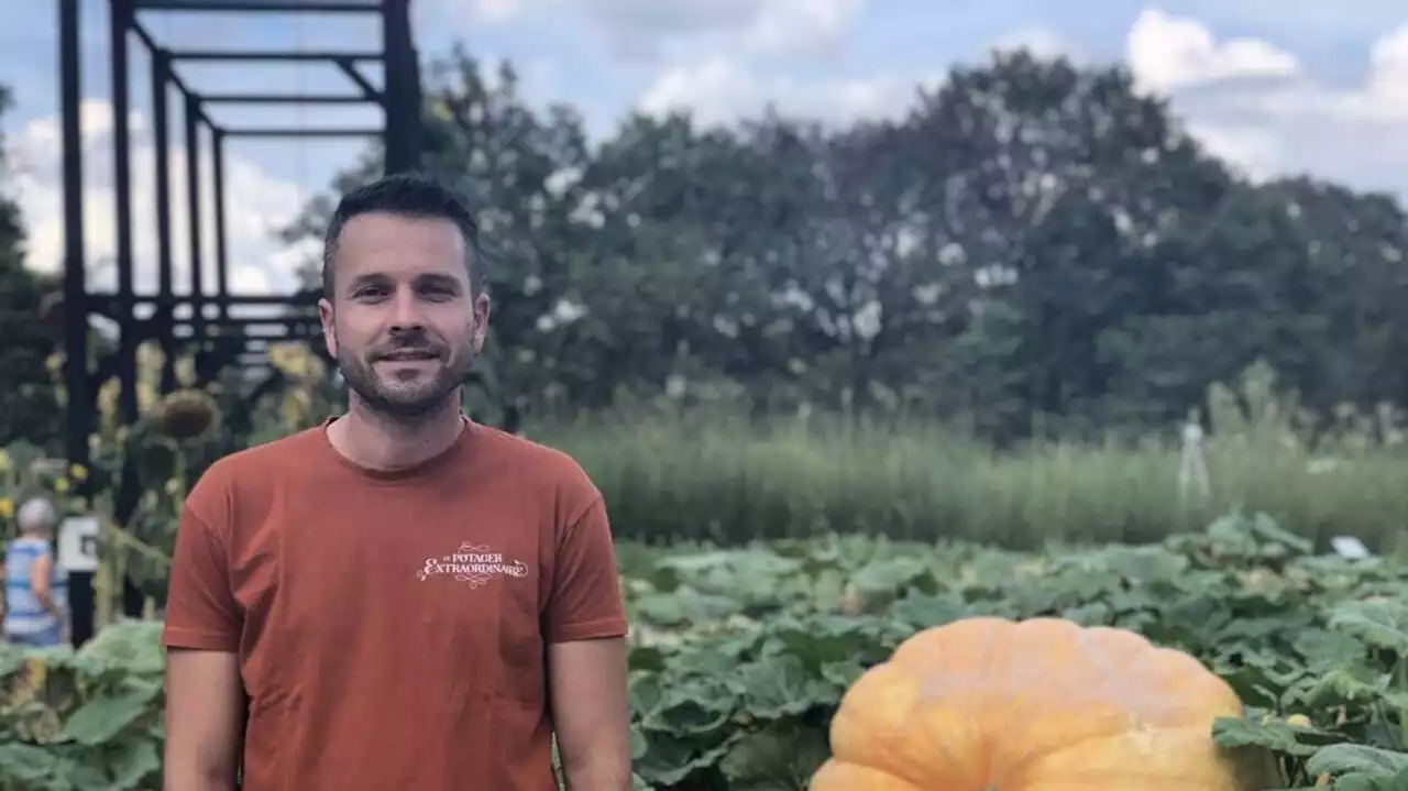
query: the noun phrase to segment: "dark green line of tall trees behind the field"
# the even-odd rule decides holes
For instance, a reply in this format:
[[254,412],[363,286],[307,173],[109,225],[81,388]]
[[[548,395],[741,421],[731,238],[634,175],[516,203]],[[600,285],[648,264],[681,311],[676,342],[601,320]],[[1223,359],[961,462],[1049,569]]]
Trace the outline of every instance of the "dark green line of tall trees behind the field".
[[[476,398],[501,425],[724,401],[995,442],[1140,432],[1259,360],[1325,414],[1408,403],[1395,197],[1252,183],[1119,65],[994,53],[897,118],[634,114],[597,144],[462,48],[424,96],[424,166],[483,225]],[[372,148],[286,236],[318,235],[334,194],[379,172]],[[0,279],[20,281],[4,217]]]

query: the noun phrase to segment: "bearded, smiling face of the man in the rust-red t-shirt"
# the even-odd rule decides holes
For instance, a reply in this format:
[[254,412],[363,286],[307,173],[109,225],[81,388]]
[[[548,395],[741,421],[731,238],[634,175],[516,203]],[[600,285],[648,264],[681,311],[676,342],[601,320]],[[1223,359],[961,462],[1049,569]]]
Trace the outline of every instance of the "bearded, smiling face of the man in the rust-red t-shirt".
[[365,214],[342,229],[328,353],[370,408],[417,417],[449,398],[484,343],[489,298],[470,294],[465,238],[448,220]]

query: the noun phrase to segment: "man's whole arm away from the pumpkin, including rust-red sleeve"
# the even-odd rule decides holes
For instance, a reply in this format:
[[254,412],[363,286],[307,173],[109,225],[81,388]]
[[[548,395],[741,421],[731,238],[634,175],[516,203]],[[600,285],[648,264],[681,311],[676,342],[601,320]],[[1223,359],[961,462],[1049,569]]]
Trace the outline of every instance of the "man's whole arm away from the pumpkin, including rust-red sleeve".
[[[197,486],[199,488],[199,486]],[[199,494],[191,493],[190,500]],[[166,595],[166,791],[232,791],[245,722],[244,612],[231,587],[228,533],[187,501]]]

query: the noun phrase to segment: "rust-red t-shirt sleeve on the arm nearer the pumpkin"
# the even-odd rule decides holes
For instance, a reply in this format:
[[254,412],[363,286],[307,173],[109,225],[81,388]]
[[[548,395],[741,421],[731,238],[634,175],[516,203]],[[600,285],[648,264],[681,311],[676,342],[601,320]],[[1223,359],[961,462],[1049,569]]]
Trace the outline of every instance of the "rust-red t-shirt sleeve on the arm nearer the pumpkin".
[[600,495],[567,526],[558,546],[543,632],[549,643],[627,633],[611,524]]

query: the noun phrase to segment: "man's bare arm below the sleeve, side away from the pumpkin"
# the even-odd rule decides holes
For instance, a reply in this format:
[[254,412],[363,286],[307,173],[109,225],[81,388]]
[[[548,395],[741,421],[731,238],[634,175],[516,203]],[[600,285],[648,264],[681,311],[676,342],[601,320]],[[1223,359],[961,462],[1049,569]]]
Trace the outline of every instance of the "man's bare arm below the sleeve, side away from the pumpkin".
[[166,791],[234,791],[245,726],[237,654],[166,654]]

